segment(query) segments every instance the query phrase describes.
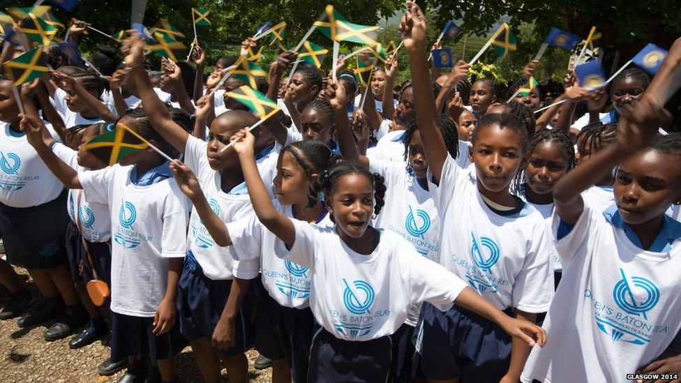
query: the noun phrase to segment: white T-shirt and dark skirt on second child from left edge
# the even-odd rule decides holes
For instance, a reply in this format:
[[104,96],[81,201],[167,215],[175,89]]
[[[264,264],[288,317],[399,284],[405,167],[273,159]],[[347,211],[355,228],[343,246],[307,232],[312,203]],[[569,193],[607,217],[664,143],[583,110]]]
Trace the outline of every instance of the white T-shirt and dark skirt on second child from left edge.
[[[88,169],[78,165],[77,151],[55,142],[52,152],[77,172]],[[66,254],[74,282],[94,279],[94,267],[100,279],[111,281],[111,213],[109,205],[87,202],[83,190],[68,190],[67,211],[70,218],[66,227]],[[80,229],[79,225],[80,223]],[[81,231],[82,230],[82,231]],[[85,245],[83,244],[85,242]],[[87,246],[87,249],[85,248]],[[92,256],[93,264],[87,258]],[[82,275],[80,265],[82,264]]]

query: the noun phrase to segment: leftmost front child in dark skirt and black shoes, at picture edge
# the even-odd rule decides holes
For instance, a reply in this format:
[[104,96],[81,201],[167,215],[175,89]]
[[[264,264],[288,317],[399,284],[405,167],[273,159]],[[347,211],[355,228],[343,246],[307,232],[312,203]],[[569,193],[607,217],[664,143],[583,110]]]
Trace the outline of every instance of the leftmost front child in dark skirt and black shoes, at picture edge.
[[[34,81],[20,89],[27,114],[36,117],[33,95],[37,87]],[[17,324],[36,326],[56,317],[54,325],[43,333],[43,337],[52,338],[82,326],[87,313],[73,286],[64,246],[68,193],[29,144],[20,120],[12,84],[0,77],[0,232],[7,262],[25,267],[45,297],[43,304],[20,317]],[[3,318],[22,315],[29,303],[28,290],[15,291]]]

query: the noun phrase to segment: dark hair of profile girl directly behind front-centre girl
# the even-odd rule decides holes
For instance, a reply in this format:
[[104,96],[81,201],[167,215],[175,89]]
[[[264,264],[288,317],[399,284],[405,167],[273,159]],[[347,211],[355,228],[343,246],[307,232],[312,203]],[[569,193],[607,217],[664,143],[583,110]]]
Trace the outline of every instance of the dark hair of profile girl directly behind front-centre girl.
[[329,167],[335,165],[342,159],[338,154],[331,153],[327,144],[315,140],[298,141],[288,144],[281,150],[282,153],[290,153],[300,165],[305,176],[310,179],[313,174],[319,174],[317,179],[310,182],[308,190],[308,208],[311,208],[319,201],[319,194],[322,191],[322,174]]

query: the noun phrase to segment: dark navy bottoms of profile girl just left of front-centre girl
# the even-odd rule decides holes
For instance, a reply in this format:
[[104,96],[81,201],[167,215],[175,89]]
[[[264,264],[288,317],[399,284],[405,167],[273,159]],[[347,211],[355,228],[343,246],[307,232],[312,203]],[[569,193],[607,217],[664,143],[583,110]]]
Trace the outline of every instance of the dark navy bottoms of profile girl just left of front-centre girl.
[[255,348],[269,359],[288,359],[295,382],[306,382],[315,317],[310,308],[280,306],[260,296],[255,317]]

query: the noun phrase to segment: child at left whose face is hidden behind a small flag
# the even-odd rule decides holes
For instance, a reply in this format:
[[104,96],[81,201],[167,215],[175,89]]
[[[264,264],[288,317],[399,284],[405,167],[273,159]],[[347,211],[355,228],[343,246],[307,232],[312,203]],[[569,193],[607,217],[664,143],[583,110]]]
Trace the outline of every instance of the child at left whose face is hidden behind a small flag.
[[[36,135],[42,128],[37,120],[24,119],[22,123]],[[133,110],[119,123],[161,151],[170,152],[170,145],[151,128],[144,110]],[[147,148],[121,158],[112,167],[76,172],[43,140],[32,144],[66,187],[82,188],[87,202],[110,206],[110,360],[128,356],[124,379],[140,380],[147,373],[142,352],[149,350],[151,363],[158,366],[163,381],[173,381],[177,375],[174,356],[186,344],[175,318],[177,284],[186,253],[187,212],[167,161]]]

